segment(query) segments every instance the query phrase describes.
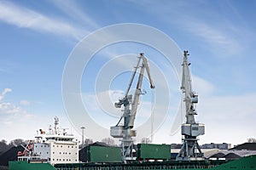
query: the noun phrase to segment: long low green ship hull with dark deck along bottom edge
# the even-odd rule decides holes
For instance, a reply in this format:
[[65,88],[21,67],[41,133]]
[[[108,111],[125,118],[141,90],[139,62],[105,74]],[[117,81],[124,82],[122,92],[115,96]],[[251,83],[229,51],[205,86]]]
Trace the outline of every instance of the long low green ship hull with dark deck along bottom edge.
[[49,163],[28,163],[26,161],[9,161],[9,170],[137,170],[137,169],[180,169],[180,170],[226,170],[243,169],[256,170],[256,156],[247,156],[235,161],[165,161],[165,162],[136,162],[132,164],[122,163],[72,163],[57,164],[55,167]]

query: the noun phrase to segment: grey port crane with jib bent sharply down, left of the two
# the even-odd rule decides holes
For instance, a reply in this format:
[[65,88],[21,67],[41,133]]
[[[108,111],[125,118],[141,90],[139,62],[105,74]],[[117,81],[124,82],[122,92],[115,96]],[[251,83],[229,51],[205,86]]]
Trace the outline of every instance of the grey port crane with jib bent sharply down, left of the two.
[[[134,81],[135,75],[139,68],[140,72],[137,80],[137,88],[132,99],[132,94],[129,94],[129,92],[131,89],[131,84]],[[136,157],[132,155],[134,142],[134,139],[132,139],[132,137],[135,137],[137,133],[136,130],[133,130],[132,128],[134,127],[134,121],[137,114],[137,105],[139,105],[140,95],[143,94],[141,88],[143,84],[143,74],[145,69],[148,73],[150,88],[154,88],[154,82],[150,76],[148,59],[146,59],[144,54],[141,53],[138,57],[137,65],[131,75],[131,80],[125,92],[125,97],[123,99],[119,99],[119,102],[114,104],[116,108],[121,108],[122,105],[124,105],[123,116],[120,117],[119,122],[115,126],[110,127],[110,135],[113,138],[121,138],[120,141],[122,145],[122,161],[124,162],[133,161],[136,159]],[[124,119],[124,122],[122,125],[120,125],[122,119]]]

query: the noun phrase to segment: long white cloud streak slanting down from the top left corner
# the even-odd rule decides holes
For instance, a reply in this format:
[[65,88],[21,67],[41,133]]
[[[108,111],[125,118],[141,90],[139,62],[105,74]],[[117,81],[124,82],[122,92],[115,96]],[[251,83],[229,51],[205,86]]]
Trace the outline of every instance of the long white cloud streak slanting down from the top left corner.
[[34,31],[44,31],[59,36],[80,39],[87,31],[75,27],[63,20],[57,20],[44,14],[39,14],[29,8],[18,6],[7,1],[0,2],[0,21],[20,28],[29,28]]

